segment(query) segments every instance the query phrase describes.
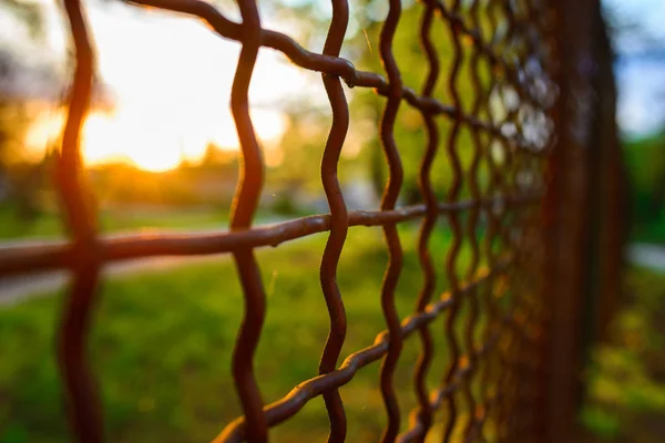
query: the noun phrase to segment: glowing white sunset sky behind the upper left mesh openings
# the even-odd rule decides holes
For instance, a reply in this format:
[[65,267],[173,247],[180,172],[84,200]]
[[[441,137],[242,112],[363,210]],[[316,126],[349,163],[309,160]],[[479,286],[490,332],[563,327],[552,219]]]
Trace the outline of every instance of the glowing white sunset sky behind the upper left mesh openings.
[[[90,164],[124,159],[164,171],[182,159],[201,158],[211,142],[237,148],[228,103],[239,44],[218,38],[194,19],[121,2],[85,3],[99,70],[115,103],[111,112],[93,111],[84,126],[82,148]],[[64,53],[66,33],[57,9],[45,7],[51,47],[47,56],[57,59]],[[278,102],[306,96],[313,80],[323,92],[320,76],[296,69],[277,52],[260,51],[249,100],[268,163],[280,157],[274,151],[287,123]],[[62,120],[63,115],[44,112],[28,142],[43,148],[57,137]]]

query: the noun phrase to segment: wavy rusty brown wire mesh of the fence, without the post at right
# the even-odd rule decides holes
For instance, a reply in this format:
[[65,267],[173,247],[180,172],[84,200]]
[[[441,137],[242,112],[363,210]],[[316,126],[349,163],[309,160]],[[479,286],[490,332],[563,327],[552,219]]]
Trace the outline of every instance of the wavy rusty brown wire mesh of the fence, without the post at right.
[[[552,79],[552,14],[540,0],[423,0],[420,40],[427,66],[420,93],[402,83],[392,41],[400,21],[400,0],[389,0],[380,33],[380,58],[386,76],[356,70],[339,58],[349,22],[348,2],[332,0],[332,20],[323,54],[301,48],[288,35],[263,29],[254,0],[238,0],[242,23],[226,19],[214,6],[198,0],[131,0],[141,7],[158,8],[197,17],[216,33],[242,44],[233,83],[231,107],[242,146],[242,174],[233,205],[231,229],[215,234],[158,234],[150,238],[124,235],[106,238],[98,234],[92,196],[84,183],[80,155],[81,125],[86,114],[94,66],[94,50],[80,0],[64,0],[76,68],[69,117],[58,159],[57,185],[66,216],[71,241],[48,247],[21,247],[0,256],[0,275],[38,270],[71,269],[59,331],[58,356],[69,398],[69,414],[81,442],[103,440],[100,401],[85,353],[89,322],[94,307],[100,269],[104,264],[149,256],[195,256],[228,253],[237,265],[245,297],[245,315],[233,354],[233,378],[244,415],[227,424],[216,441],[267,439],[268,429],[288,420],[310,400],[323,396],[330,422],[330,440],[346,437],[346,410],[338,389],[364,367],[381,360],[380,391],[387,414],[382,441],[422,441],[438,411],[446,411],[443,440],[529,441],[536,439],[540,402],[538,377],[543,334],[540,295],[543,247],[540,208],[545,188],[546,153],[552,144],[550,109],[556,101]],[[433,35],[434,20],[449,29]],[[419,37],[417,37],[418,32]],[[452,63],[441,69],[437,39],[452,43]],[[330,212],[277,225],[253,227],[264,181],[264,162],[249,116],[247,91],[257,53],[270,48],[298,66],[321,72],[332,110],[330,133],[323,152],[321,182]],[[462,70],[462,64],[468,69]],[[489,81],[480,64],[491,66]],[[411,69],[402,66],[401,69]],[[389,169],[380,210],[349,212],[337,178],[340,151],[349,126],[349,109],[342,82],[349,87],[370,87],[386,99],[380,121],[380,141]],[[450,103],[437,99],[434,86],[444,82]],[[473,90],[471,106],[464,109],[459,84]],[[499,109],[494,105],[501,103]],[[427,145],[418,184],[422,204],[397,207],[403,171],[395,141],[398,109],[413,106],[424,122]],[[441,131],[438,121],[450,123]],[[472,159],[460,161],[459,135],[472,136]],[[452,181],[440,202],[430,179],[437,156],[451,165]],[[481,185],[479,165],[489,166],[489,183]],[[462,197],[462,185],[469,198]],[[434,264],[429,238],[437,220],[447,217],[452,244],[447,251],[444,278],[449,289],[436,295],[440,264]],[[400,320],[395,305],[402,264],[397,225],[421,219],[418,254],[423,275],[416,309]],[[481,225],[483,236],[479,233]],[[369,347],[339,363],[347,319],[344,293],[336,282],[337,265],[347,231],[354,226],[380,226],[389,264],[380,293],[386,331]],[[321,259],[320,284],[329,317],[328,340],[323,350],[319,375],[304,380],[283,399],[264,404],[254,371],[254,354],[266,315],[266,295],[254,248],[277,246],[315,233],[329,231]],[[460,250],[467,241],[471,259],[460,271]],[[461,316],[464,310],[467,313]],[[434,349],[432,334],[441,331],[430,323],[446,316],[446,350]],[[463,324],[458,324],[462,322]],[[403,411],[398,402],[395,370],[402,343],[418,336],[421,352],[413,373],[418,405]],[[482,337],[482,341],[477,338]],[[440,383],[428,392],[427,377],[436,352],[447,352],[448,368]],[[410,412],[408,425],[406,416]]]

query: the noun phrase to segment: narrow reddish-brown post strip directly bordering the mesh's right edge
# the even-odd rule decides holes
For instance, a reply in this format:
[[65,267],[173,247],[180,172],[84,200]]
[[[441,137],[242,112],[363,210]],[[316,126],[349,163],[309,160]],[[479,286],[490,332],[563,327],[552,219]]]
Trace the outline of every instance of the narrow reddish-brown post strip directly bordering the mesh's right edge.
[[549,312],[543,347],[545,433],[549,442],[573,434],[580,398],[582,300],[589,271],[585,238],[593,119],[590,74],[593,69],[589,23],[594,0],[553,0],[560,100],[557,141],[552,150],[545,197],[545,293]]

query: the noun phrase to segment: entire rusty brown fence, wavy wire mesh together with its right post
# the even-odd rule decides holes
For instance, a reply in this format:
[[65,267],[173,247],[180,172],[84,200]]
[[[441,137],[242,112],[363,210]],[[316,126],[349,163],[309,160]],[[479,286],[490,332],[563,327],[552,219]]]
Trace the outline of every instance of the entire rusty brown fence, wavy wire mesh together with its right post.
[[[606,65],[598,68],[594,62],[597,48],[606,49],[590,30],[590,23],[601,20],[595,14],[597,3],[422,0],[422,4],[415,6],[421,9],[422,19],[412,37],[419,40],[427,62],[402,66],[392,52],[402,6],[400,0],[385,0],[389,8],[379,45],[385,72],[376,73],[359,71],[351,61],[339,56],[349,9],[347,0],[331,1],[332,19],[323,53],[310,52],[288,35],[262,28],[255,0],[237,0],[241,23],[200,0],[127,1],[134,7],[197,17],[219,37],[242,45],[231,109],[243,162],[228,231],[106,238],[99,235],[80,154],[95,51],[81,0],[63,0],[76,66],[55,182],[70,240],[3,251],[0,276],[59,268],[72,272],[60,322],[58,356],[78,441],[104,440],[102,404],[85,350],[101,267],[140,257],[221,253],[233,255],[244,291],[244,318],[231,369],[244,414],[231,423],[221,423],[216,441],[266,441],[270,427],[294,416],[317,396],[323,398],[328,411],[330,441],[354,440],[347,435],[346,415],[355,411],[345,408],[338,389],[352,383],[358,371],[379,360],[380,393],[387,415],[382,441],[423,441],[439,411],[443,411],[440,439],[444,441],[570,441],[575,380],[582,360],[575,352],[582,342],[580,319],[584,318],[583,299],[589,292],[585,288],[594,287],[598,292],[597,285],[585,286],[592,274],[590,266],[597,261],[597,256],[585,255],[594,247],[585,243],[592,229],[586,222],[591,212],[587,203],[593,195],[602,194],[597,200],[601,210],[595,213],[616,216],[611,194],[620,187],[612,181],[620,164],[614,154],[614,123],[610,120],[614,99],[611,96],[600,112],[597,91],[606,86],[602,82],[607,79],[597,80],[596,87],[590,78],[594,72],[607,72]],[[432,32],[436,20],[444,23],[447,33]],[[441,50],[434,44],[441,39],[450,42],[452,51],[446,54],[451,58],[446,69]],[[247,91],[258,51],[264,48],[282,52],[303,69],[321,73],[332,111],[320,166],[329,213],[254,227],[265,164],[249,115]],[[491,74],[481,74],[480,64],[489,65]],[[405,70],[421,70],[423,84],[405,84]],[[438,83],[446,85],[446,99],[436,93]],[[461,96],[461,83],[471,85],[470,105]],[[372,89],[385,97],[379,136],[389,176],[378,210],[347,210],[337,178],[349,126],[345,84]],[[412,206],[398,205],[403,182],[400,150],[415,148],[396,145],[400,106],[418,110],[427,135],[426,146],[417,146],[423,152],[418,175],[421,203]],[[602,119],[608,125],[601,124]],[[446,131],[438,124],[440,120],[449,123]],[[462,147],[461,131],[471,134],[471,146]],[[592,142],[592,135],[600,132],[605,140]],[[595,151],[587,150],[593,143]],[[601,166],[595,165],[595,175],[591,174],[594,158],[601,155],[597,152],[605,146],[610,154],[602,157]],[[461,161],[462,148],[471,150],[470,162]],[[444,156],[450,165],[451,181],[443,200],[437,198],[430,179],[437,156]],[[488,165],[487,179],[480,178],[481,162]],[[462,192],[463,185],[467,193]],[[447,222],[444,225],[437,223],[441,218]],[[421,220],[418,251],[423,286],[411,288],[415,310],[400,319],[395,303],[402,265],[397,226],[413,219]],[[377,297],[381,300],[386,330],[374,343],[341,360],[347,317],[336,272],[347,231],[357,226],[383,229],[389,264]],[[430,256],[433,229],[449,229],[452,234],[444,264],[433,262]],[[600,266],[601,272],[593,272],[594,281],[604,281],[604,271],[616,274],[618,230],[616,224],[603,226],[603,238],[614,243],[601,241],[605,265]],[[254,249],[321,231],[329,233],[320,284],[330,323],[319,375],[303,380],[283,399],[265,404],[257,384],[262,373],[254,370],[254,354],[268,308]],[[460,271],[464,241],[470,245],[471,259]],[[438,277],[448,281],[443,293],[434,293]],[[440,317],[446,319],[444,330],[430,328]],[[432,336],[441,333],[446,349],[436,349]],[[412,380],[395,377],[405,340],[418,340],[421,344]],[[431,387],[427,377],[438,352],[448,356],[448,368],[438,375],[440,382]],[[412,384],[418,400],[412,411],[400,406],[395,392],[396,385],[407,383]]]

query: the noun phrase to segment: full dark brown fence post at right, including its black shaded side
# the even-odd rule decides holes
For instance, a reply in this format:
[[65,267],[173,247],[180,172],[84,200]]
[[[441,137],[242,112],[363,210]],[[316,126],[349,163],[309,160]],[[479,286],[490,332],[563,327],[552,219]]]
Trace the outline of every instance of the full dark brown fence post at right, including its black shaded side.
[[574,439],[581,374],[621,290],[625,240],[612,51],[596,0],[552,1],[560,102],[544,220],[549,322],[543,347],[548,441]]

